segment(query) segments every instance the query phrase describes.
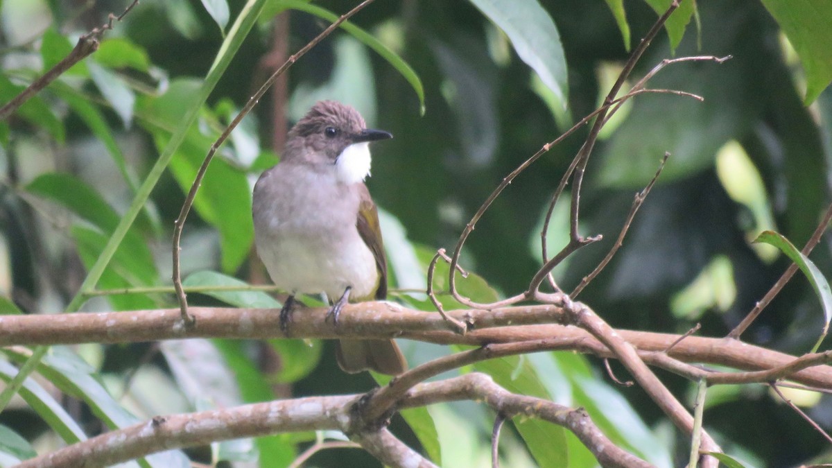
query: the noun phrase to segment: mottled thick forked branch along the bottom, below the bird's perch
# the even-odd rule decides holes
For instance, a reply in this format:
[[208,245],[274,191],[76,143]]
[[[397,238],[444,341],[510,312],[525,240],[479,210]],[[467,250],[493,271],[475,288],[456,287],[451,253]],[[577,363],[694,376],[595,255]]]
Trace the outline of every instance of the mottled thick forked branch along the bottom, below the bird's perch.
[[[136,426],[107,432],[59,451],[24,461],[22,468],[45,466],[109,466],[158,451],[202,446],[212,441],[266,436],[279,432],[338,430],[389,466],[433,466],[384,427],[351,432],[354,402],[360,395],[312,396],[278,400],[223,410],[157,416]],[[650,466],[615,446],[595,426],[586,411],[552,401],[516,395],[490,377],[473,373],[447,381],[422,384],[405,396],[402,406],[440,401],[482,400],[509,417],[539,417],[567,427],[597,457],[602,466]]]

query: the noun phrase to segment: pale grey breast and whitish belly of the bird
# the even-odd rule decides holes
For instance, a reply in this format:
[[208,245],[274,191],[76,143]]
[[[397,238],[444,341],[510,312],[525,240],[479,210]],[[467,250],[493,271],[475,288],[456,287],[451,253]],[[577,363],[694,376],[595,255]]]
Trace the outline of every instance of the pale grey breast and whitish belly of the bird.
[[[337,300],[347,286],[369,298],[379,283],[373,252],[355,227],[359,196],[334,173],[311,175],[280,164],[254,193],[257,252],[275,286],[291,293],[326,293]],[[310,191],[310,187],[317,187]]]

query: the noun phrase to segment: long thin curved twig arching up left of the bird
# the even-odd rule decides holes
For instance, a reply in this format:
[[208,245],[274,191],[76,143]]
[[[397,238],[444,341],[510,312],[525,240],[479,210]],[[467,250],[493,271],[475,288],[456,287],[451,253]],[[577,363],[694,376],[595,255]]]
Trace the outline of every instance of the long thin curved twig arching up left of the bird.
[[182,203],[181,211],[179,212],[179,217],[176,218],[176,222],[174,222],[173,227],[173,286],[176,289],[176,298],[179,300],[179,306],[181,311],[181,319],[182,322],[186,326],[193,326],[194,320],[193,317],[188,315],[188,300],[185,296],[185,291],[182,288],[182,279],[181,279],[181,271],[180,271],[180,241],[182,237],[182,228],[185,225],[185,220],[188,217],[188,212],[191,211],[191,206],[194,204],[194,199],[196,198],[196,192],[199,190],[199,187],[202,182],[202,178],[205,177],[206,171],[208,170],[208,165],[210,164],[211,159],[214,157],[214,153],[220,146],[225,142],[225,139],[228,138],[230,133],[240,124],[243,120],[243,117],[248,115],[253,107],[260,101],[260,97],[262,97],[266,91],[268,91],[269,87],[277,80],[280,75],[282,75],[289,67],[292,66],[300,57],[303,57],[306,52],[309,52],[312,47],[318,45],[319,42],[324,40],[324,37],[329,36],[335,28],[339,27],[340,24],[346,21],[349,17],[352,17],[355,13],[361,11],[364,7],[369,5],[373,0],[364,0],[364,2],[359,3],[353,9],[349,10],[349,12],[344,13],[341,15],[335,22],[329,25],[323,32],[321,32],[317,37],[312,39],[308,42],[304,47],[302,47],[298,52],[291,55],[284,63],[280,66],[272,75],[263,83],[263,86],[260,87],[257,92],[255,92],[254,96],[249,98],[249,101],[245,103],[245,107],[240,110],[240,113],[234,117],[234,120],[225,128],[225,131],[222,132],[219,138],[211,145],[210,150],[208,150],[208,154],[206,155],[205,161],[202,162],[202,165],[199,171],[196,172],[196,177],[194,177],[194,182],[191,184],[191,190],[188,192],[187,197],[185,198],[185,202]]

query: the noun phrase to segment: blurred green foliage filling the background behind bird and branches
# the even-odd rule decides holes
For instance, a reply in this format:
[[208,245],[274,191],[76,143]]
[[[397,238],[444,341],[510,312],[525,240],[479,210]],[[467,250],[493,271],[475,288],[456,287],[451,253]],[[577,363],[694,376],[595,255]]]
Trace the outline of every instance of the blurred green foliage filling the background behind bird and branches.
[[[59,62],[80,34],[126,3],[0,2],[0,102]],[[502,177],[597,107],[627,51],[669,4],[375,2],[295,63],[285,93],[267,95],[220,148],[185,227],[186,286],[265,282],[251,249],[251,184],[280,156],[272,142],[287,128],[275,127],[275,121],[284,122],[277,117],[287,115],[291,124],[314,100],[330,98],[354,105],[371,125],[395,135],[374,147],[368,183],[384,210],[391,286],[409,288],[395,297],[432,310],[422,294],[410,290],[424,287],[433,252],[453,249]],[[252,0],[245,6],[146,0],[106,32],[92,57],[0,122],[2,311],[67,309],[102,258],[106,268],[93,281],[98,288],[170,284],[171,228],[184,193],[211,143],[276,67],[278,59],[270,55],[275,44],[294,52],[352,6],[345,0]],[[276,14],[289,15],[290,26],[275,28]],[[604,240],[558,268],[558,284],[568,291],[592,271],[612,246],[632,194],[670,152],[622,251],[580,299],[613,326],[679,333],[701,321],[706,336],[730,331],[788,265],[785,256],[752,248],[750,241],[773,229],[802,246],[830,200],[829,24],[832,6],[826,0],[683,1],[629,83],[665,58],[733,58],[675,64],[648,85],[693,92],[704,102],[647,94],[610,122],[582,192],[582,233],[600,233]],[[220,47],[223,41],[226,47]],[[463,251],[463,266],[476,273],[461,280],[463,295],[492,301],[527,287],[541,261],[547,200],[586,132],[579,129],[522,173],[478,223]],[[726,157],[742,163],[719,164],[718,155],[728,150]],[[166,172],[151,169],[158,161]],[[119,232],[128,207],[144,202],[141,187],[148,180],[149,198],[119,246],[110,249],[108,240]],[[742,191],[748,186],[754,189]],[[555,212],[550,251],[563,245],[567,229],[566,207]],[[826,275],[832,271],[829,245],[822,242],[811,256]],[[439,271],[434,285],[441,291],[447,287],[447,266],[440,263]],[[202,305],[279,304],[252,291],[190,298]],[[453,306],[450,298],[442,299]],[[82,308],[175,303],[170,294],[127,294],[92,298]],[[800,277],[744,338],[800,353],[815,343],[823,323],[820,301]],[[401,344],[411,366],[453,351]],[[369,376],[337,370],[331,353],[318,341],[56,347],[37,372],[72,404],[66,410],[27,379],[21,391],[26,404],[0,415],[0,463],[54,450],[59,439],[71,443],[104,426],[160,413],[366,391],[374,385]],[[26,357],[4,354],[12,363]],[[589,361],[548,353],[462,371],[488,372],[512,391],[582,406],[612,441],[658,466],[686,460],[686,437],[669,429],[643,392],[612,386]],[[0,364],[0,379],[7,381],[14,370]],[[677,395],[692,395],[690,382],[661,377]],[[705,426],[747,466],[829,457],[825,441],[765,391],[740,386],[720,391],[706,410]],[[830,399],[821,398],[809,411],[830,429]],[[474,466],[488,460],[493,417],[469,402],[407,411],[391,427],[434,462]],[[6,433],[16,436],[2,436]],[[339,435],[270,436],[188,456],[285,466],[316,437]],[[503,431],[500,447],[507,466],[595,465],[571,433],[540,421],[514,421]],[[172,451],[139,463],[185,466],[187,461],[183,452]],[[326,451],[314,463],[372,461],[360,451]]]

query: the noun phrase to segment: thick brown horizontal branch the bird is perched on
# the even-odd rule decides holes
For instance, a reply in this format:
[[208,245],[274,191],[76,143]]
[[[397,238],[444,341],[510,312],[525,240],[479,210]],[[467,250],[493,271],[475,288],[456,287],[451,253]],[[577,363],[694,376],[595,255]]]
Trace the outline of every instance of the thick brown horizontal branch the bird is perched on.
[[[200,337],[285,337],[280,331],[280,311],[277,309],[191,307],[189,311],[198,321],[196,326],[187,330],[181,326],[179,309],[75,313],[60,316],[0,316],[0,346],[126,343]],[[515,354],[570,350],[599,357],[616,357],[587,331],[574,326],[553,325],[553,322],[562,321],[562,310],[556,306],[506,307],[493,311],[448,311],[447,313],[456,320],[472,324],[473,330],[465,335],[448,331],[448,322],[437,313],[405,309],[389,302],[363,302],[344,306],[337,330],[330,321],[324,321],[326,313],[327,309],[324,307],[297,311],[292,316],[290,334],[308,338],[399,336],[438,344],[473,346],[512,343],[513,346],[523,346],[522,349],[516,349]],[[674,371],[668,361],[661,360],[656,355],[663,353],[678,341],[679,335],[628,330],[617,330],[617,333],[623,340],[635,346],[649,364]],[[492,354],[489,356],[494,356],[496,349],[500,348],[490,346],[488,352]],[[795,356],[736,340],[702,336],[686,337],[672,347],[669,356],[672,360],[729,366],[743,371],[770,371],[793,365],[796,359]],[[819,361],[810,362],[812,359]],[[820,366],[820,358],[811,356],[801,358],[801,363],[816,366],[801,368],[802,370],[791,375],[757,376],[760,380],[756,381],[782,377],[807,386],[832,389],[832,366]],[[691,372],[680,373],[685,376],[691,375]],[[717,380],[718,377],[714,379],[709,376],[709,381]]]

